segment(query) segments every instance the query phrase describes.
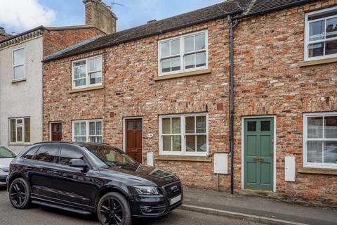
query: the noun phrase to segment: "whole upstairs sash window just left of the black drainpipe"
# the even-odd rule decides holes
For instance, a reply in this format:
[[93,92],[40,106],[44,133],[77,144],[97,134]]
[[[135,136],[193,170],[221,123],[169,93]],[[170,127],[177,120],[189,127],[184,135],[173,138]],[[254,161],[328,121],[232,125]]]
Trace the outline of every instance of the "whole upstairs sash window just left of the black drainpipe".
[[207,68],[207,31],[159,41],[159,76]]

